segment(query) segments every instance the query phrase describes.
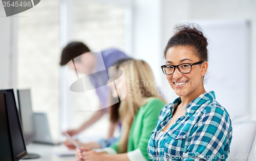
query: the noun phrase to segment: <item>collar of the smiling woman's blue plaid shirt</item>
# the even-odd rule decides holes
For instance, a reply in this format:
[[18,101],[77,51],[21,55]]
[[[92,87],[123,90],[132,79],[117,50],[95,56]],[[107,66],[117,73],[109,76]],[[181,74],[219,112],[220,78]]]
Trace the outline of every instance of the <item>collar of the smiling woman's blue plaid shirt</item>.
[[[189,114],[190,116],[192,116],[196,112],[196,110],[199,108],[199,106],[202,105],[204,102],[206,102],[209,99],[216,99],[214,91],[205,92],[205,93],[201,94],[200,96],[198,96],[193,101],[191,101],[185,108],[186,113]],[[181,98],[178,97],[174,100],[173,104],[170,106],[170,108],[172,108],[172,114],[173,114],[175,108],[177,107],[177,104],[180,101],[181,101]]]

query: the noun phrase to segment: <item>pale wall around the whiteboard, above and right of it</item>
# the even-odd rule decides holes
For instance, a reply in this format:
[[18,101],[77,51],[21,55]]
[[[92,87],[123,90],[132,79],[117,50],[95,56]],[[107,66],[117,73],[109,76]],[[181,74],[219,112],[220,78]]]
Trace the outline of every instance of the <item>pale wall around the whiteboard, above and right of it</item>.
[[[162,48],[173,35],[174,26],[185,19],[246,19],[250,21],[250,96],[249,106],[252,118],[256,119],[256,1],[175,1],[163,0]],[[242,54],[242,53],[241,53]],[[238,74],[239,76],[239,74]]]

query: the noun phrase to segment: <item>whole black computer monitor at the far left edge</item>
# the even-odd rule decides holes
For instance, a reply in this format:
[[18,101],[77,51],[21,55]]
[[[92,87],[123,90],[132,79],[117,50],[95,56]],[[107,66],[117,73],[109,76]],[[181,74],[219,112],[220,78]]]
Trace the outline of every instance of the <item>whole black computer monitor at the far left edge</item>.
[[17,161],[27,155],[27,150],[13,90],[0,90],[0,99],[0,158]]

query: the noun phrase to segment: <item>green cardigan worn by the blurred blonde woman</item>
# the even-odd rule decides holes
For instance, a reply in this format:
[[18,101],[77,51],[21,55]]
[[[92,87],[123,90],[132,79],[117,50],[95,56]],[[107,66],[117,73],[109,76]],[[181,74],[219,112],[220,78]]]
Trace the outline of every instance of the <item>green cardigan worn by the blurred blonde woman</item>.
[[[164,105],[164,102],[160,99],[153,98],[139,108],[129,132],[127,152],[139,148],[143,156],[147,160],[151,160],[147,154],[147,143],[150,139],[151,131],[156,127],[158,116]],[[118,152],[118,142],[112,145],[111,148]]]

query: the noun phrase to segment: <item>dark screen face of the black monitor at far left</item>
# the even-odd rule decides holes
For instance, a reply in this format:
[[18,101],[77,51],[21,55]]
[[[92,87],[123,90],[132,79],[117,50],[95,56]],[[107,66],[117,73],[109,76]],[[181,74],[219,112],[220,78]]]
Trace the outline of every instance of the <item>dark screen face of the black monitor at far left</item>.
[[27,155],[27,151],[13,90],[6,90],[6,105],[9,117],[13,156],[15,160],[19,160]]

